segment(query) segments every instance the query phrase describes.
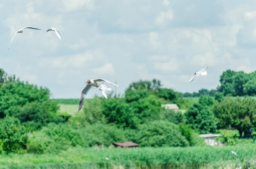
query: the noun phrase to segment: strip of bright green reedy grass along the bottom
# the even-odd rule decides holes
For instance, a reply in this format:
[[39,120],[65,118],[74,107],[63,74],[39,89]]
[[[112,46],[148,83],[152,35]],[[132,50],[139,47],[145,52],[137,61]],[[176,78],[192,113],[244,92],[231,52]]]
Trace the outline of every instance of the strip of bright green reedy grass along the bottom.
[[[238,156],[230,153],[236,151]],[[74,148],[59,154],[0,156],[0,168],[114,168],[211,164],[212,168],[256,167],[256,145],[225,147],[161,147],[139,149]],[[110,160],[106,160],[108,157]]]

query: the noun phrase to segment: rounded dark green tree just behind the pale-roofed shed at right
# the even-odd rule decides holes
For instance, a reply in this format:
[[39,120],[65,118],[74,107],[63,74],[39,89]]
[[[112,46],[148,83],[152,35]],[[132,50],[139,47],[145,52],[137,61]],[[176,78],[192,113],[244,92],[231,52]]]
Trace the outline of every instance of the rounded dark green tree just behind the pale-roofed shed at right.
[[206,105],[194,104],[185,113],[186,124],[200,133],[214,133],[216,131],[216,118]]

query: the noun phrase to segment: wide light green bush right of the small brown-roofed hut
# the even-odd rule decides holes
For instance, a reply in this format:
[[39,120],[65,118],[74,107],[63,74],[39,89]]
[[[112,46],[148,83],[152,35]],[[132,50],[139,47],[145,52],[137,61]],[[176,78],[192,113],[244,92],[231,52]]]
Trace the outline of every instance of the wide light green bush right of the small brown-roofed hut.
[[179,127],[168,121],[153,121],[139,125],[137,143],[150,147],[184,147],[189,142],[180,133]]

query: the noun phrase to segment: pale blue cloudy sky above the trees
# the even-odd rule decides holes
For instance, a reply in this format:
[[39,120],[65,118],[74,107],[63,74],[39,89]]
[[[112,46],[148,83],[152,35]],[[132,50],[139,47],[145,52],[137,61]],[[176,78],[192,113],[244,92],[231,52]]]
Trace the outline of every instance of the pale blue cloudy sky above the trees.
[[[254,0],[1,0],[0,68],[79,98],[88,79],[152,80],[180,92],[216,89],[223,71],[256,70]],[[9,44],[13,33],[24,29]],[[62,40],[49,28],[60,30]],[[188,83],[208,66],[207,76]],[[107,87],[115,87],[106,84]],[[88,93],[88,98],[98,90]]]

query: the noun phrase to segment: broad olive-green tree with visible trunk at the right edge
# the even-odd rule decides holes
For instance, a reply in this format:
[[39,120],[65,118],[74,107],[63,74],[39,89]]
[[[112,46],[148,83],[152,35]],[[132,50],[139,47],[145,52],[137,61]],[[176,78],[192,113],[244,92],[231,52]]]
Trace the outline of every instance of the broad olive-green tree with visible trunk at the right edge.
[[250,97],[226,97],[222,102],[214,106],[213,112],[219,119],[218,127],[232,127],[239,131],[240,137],[251,137],[251,129],[255,127],[254,113],[256,102]]

